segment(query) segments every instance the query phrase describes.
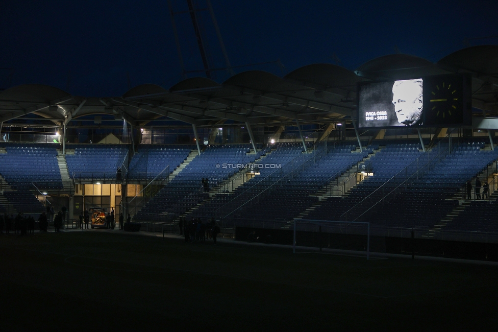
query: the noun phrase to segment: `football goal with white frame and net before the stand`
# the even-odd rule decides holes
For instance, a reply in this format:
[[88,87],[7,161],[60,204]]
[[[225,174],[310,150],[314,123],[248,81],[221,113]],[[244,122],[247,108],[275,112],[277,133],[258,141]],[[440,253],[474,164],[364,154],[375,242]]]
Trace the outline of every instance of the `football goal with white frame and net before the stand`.
[[370,258],[370,223],[294,219],[294,253],[323,249],[361,251]]

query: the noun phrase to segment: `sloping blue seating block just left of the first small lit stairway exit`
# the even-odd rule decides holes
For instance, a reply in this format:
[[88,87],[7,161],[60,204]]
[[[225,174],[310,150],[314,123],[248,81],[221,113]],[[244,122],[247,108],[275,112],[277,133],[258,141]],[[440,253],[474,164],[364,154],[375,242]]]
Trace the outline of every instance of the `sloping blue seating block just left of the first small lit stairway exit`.
[[201,185],[208,179],[210,188],[239,171],[240,164],[254,162],[259,154],[249,154],[249,145],[208,146],[178,175],[138,211],[134,220],[164,220],[164,216],[179,216],[209,197]]

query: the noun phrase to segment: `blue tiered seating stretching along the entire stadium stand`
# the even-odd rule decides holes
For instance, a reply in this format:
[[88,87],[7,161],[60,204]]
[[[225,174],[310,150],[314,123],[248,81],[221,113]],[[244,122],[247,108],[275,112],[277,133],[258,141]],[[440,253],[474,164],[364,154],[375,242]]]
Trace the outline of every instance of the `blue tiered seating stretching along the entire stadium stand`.
[[[140,146],[130,161],[128,177],[131,181],[150,181],[166,165],[171,165],[172,173],[191,148]],[[69,145],[68,149],[74,149],[73,155],[66,155],[70,174],[86,179],[114,178],[128,151],[119,145]],[[306,216],[369,221],[379,234],[386,229],[429,231],[441,225],[454,232],[497,232],[493,212],[489,212],[495,208],[494,200],[462,205],[462,188],[490,167],[498,158],[498,150],[492,151],[478,139],[459,141],[446,150],[434,147],[423,152],[413,141],[389,142],[384,147],[374,143],[363,152],[347,142],[327,148],[317,145],[311,153],[304,153],[300,143],[268,145],[257,153],[250,145],[211,145],[167,185],[158,188],[156,195],[145,197],[132,213],[133,220],[170,222],[179,216],[203,220],[215,217],[223,218],[224,225],[231,227],[236,221],[285,222]],[[31,182],[43,189],[62,189],[57,154],[52,146],[5,145],[0,153],[0,175],[12,187],[3,195],[9,206],[23,211],[43,209]],[[279,167],[243,168],[255,161]],[[331,196],[326,188],[356,166],[373,175],[342,196]],[[259,174],[246,176],[230,191],[220,186],[251,171]],[[208,179],[211,193],[203,191],[202,178]],[[441,223],[457,209],[462,210],[458,217]],[[6,210],[0,205],[0,211]]]

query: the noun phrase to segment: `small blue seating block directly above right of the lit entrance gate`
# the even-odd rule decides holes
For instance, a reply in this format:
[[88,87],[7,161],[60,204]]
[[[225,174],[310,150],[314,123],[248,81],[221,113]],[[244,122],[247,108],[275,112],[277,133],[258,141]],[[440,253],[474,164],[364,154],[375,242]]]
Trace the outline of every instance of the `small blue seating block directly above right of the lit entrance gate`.
[[190,151],[190,148],[142,146],[130,161],[128,179],[153,179],[168,165],[169,173],[173,173]]

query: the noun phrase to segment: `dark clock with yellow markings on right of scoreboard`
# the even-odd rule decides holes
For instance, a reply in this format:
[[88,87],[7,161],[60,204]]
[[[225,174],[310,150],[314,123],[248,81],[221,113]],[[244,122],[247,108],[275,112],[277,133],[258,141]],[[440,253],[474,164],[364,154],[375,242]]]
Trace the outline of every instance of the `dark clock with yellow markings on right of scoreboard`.
[[[428,83],[426,85],[426,83]],[[444,75],[424,81],[426,125],[460,124],[463,120],[462,80]]]

